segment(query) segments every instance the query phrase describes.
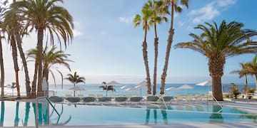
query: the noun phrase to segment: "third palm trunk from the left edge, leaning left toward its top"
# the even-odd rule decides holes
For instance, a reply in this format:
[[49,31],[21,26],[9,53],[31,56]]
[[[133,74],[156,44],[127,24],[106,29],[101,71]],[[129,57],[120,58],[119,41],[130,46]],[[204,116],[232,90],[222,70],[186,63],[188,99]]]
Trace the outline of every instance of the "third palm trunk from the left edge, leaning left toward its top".
[[24,51],[23,51],[22,46],[21,46],[21,36],[19,36],[19,34],[16,34],[16,41],[17,41],[17,46],[18,46],[19,53],[20,53],[20,56],[21,56],[21,60],[22,60],[22,63],[24,65],[24,73],[25,73],[25,80],[26,80],[26,96],[29,97],[30,93],[31,93],[31,87],[29,86],[29,84],[30,84],[30,82],[29,82],[29,70],[28,70],[28,66],[26,64],[26,58],[25,58],[25,55],[24,55]]

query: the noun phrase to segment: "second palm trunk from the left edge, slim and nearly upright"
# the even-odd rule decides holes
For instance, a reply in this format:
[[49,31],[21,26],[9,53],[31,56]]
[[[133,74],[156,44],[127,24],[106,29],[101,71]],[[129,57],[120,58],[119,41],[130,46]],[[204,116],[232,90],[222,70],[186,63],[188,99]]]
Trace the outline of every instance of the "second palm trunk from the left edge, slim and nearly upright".
[[14,60],[14,71],[15,71],[17,99],[18,99],[21,97],[21,92],[19,87],[19,67],[18,67],[18,61],[17,61],[17,48],[16,48],[16,41],[14,40],[14,36],[11,36],[11,49],[12,49],[12,57]]

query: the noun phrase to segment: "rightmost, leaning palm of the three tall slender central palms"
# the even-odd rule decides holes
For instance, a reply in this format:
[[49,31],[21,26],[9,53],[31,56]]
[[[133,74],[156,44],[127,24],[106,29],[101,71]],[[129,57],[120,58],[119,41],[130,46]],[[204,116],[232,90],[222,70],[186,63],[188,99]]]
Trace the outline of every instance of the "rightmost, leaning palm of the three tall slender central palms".
[[[171,6],[171,28],[168,31],[168,40],[167,40],[167,47],[166,47],[166,56],[165,56],[165,62],[163,66],[163,73],[161,75],[161,91],[160,94],[164,94],[164,87],[165,87],[165,81],[167,76],[167,70],[168,70],[168,60],[171,53],[171,44],[173,41],[173,35],[174,35],[174,28],[173,28],[173,21],[174,21],[174,11],[181,13],[183,11],[182,7],[178,6],[179,0],[163,0]],[[188,9],[188,0],[180,0],[181,6],[186,6]]]

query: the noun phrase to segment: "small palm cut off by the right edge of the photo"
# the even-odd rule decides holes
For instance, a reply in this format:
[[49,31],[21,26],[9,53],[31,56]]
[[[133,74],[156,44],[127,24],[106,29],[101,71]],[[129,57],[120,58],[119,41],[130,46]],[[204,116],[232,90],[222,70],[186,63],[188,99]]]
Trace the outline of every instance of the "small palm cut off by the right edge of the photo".
[[249,70],[249,75],[254,75],[256,78],[256,90],[257,90],[257,55],[254,56],[253,61],[246,63],[246,67]]

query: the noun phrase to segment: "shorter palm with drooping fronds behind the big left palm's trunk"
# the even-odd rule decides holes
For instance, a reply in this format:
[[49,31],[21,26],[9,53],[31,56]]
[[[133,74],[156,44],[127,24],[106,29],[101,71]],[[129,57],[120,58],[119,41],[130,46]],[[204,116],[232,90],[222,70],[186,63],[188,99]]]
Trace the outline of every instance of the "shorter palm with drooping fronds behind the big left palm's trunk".
[[[32,58],[32,61],[39,61],[36,56],[39,50],[37,48],[28,51],[28,58]],[[71,60],[68,59],[69,54],[64,53],[63,50],[56,50],[56,46],[53,46],[50,50],[48,48],[44,49],[43,52],[43,78],[46,78],[46,82],[49,80],[49,72],[54,78],[54,84],[56,85],[56,78],[54,76],[54,70],[56,70],[61,75],[61,88],[63,88],[63,75],[61,71],[55,66],[56,64],[64,65],[71,71],[69,63]],[[37,59],[37,60],[36,60]]]

